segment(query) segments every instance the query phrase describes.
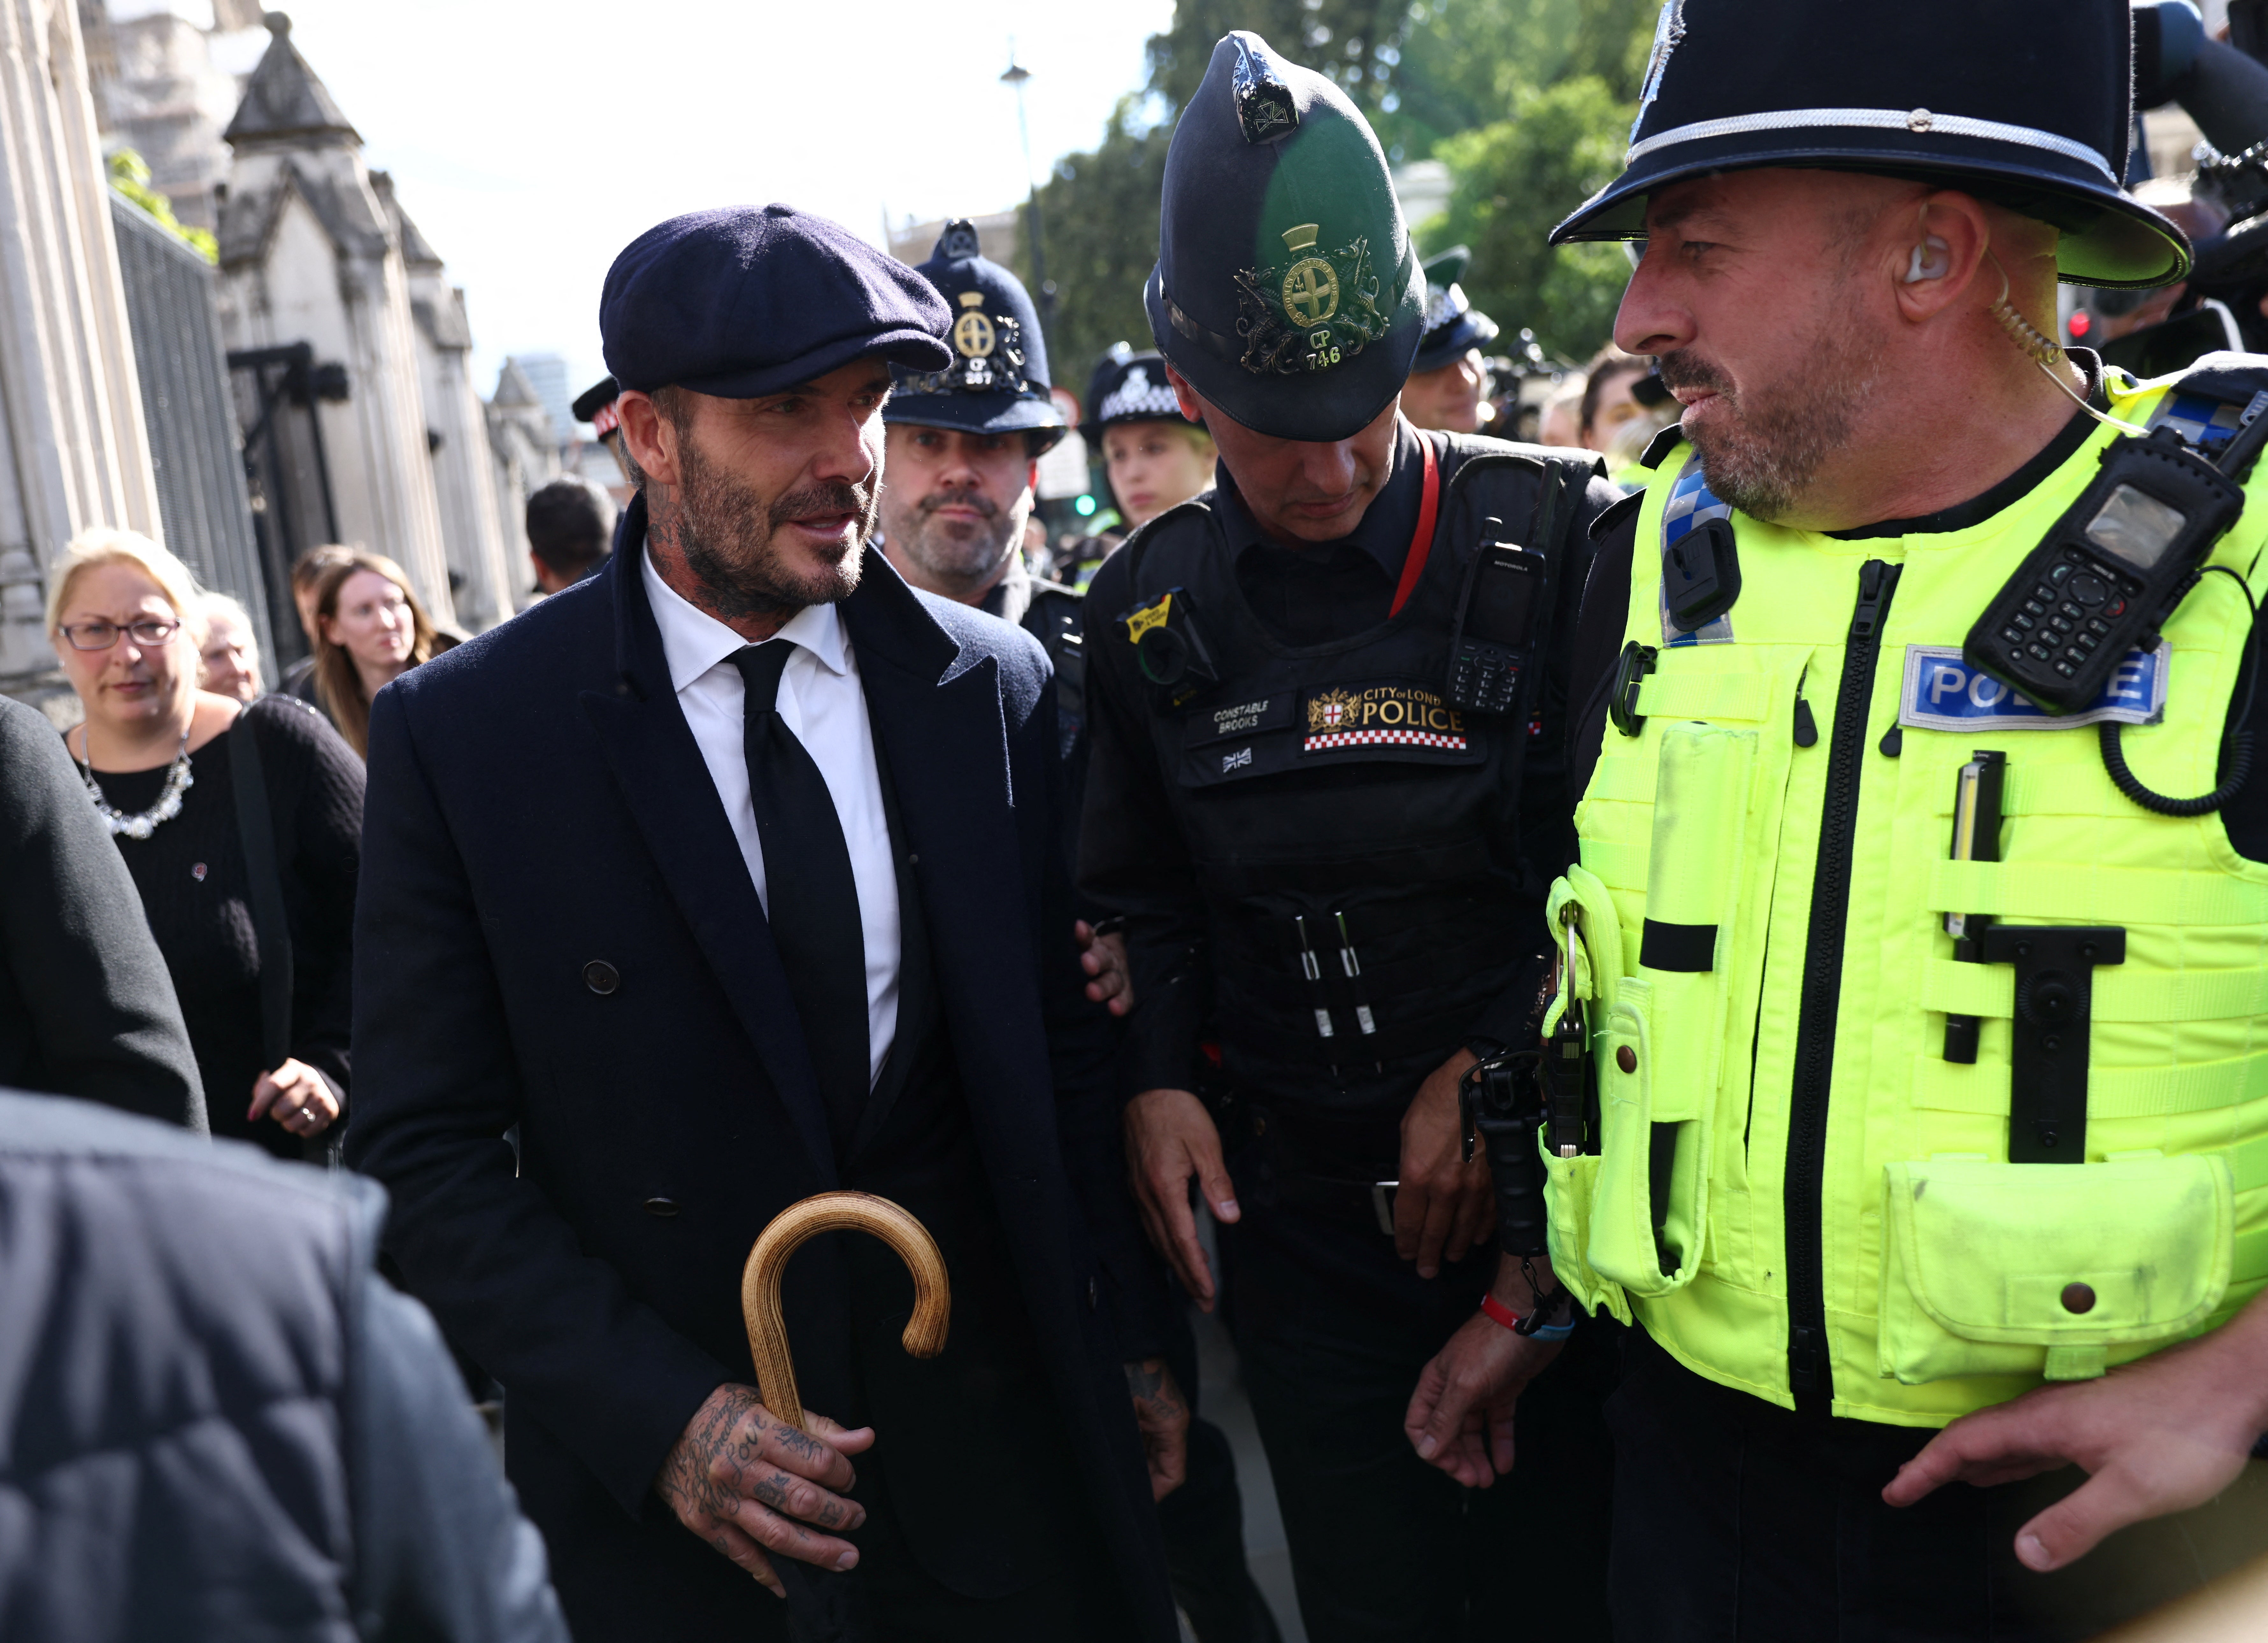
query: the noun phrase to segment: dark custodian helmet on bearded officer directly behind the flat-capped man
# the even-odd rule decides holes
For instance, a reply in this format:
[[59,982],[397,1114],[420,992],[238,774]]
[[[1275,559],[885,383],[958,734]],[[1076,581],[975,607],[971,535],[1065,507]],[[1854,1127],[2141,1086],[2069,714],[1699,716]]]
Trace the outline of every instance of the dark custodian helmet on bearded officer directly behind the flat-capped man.
[[975,225],[948,222],[930,261],[914,272],[953,309],[946,334],[953,363],[928,372],[891,365],[894,390],[882,420],[962,433],[1030,433],[1034,454],[1061,440],[1068,424],[1048,395],[1039,313],[1023,281],[978,250]]

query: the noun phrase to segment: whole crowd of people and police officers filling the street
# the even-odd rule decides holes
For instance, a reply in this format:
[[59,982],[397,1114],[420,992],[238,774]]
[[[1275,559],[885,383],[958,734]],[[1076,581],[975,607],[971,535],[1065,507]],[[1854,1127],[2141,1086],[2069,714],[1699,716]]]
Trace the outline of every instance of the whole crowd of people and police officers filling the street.
[[277,669],[73,540],[0,1634],[1261,1643],[1193,1309],[1318,1643],[2082,1638],[2257,1557],[2268,361],[2050,336],[2209,313],[2130,89],[2268,70],[2143,11],[1674,0],[1556,231],[1615,343],[1526,379],[1229,34],[1057,545],[1016,275],[782,204],[619,254],[631,502],[538,490],[488,633],[324,545]]

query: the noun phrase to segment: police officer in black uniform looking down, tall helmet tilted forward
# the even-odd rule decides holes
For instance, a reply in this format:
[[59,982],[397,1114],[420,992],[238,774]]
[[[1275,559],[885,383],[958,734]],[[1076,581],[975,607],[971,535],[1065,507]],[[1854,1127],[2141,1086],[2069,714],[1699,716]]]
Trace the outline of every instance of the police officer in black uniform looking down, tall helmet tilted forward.
[[[1522,1412],[1533,1475],[1461,1489],[1402,1432],[1495,1269],[1458,1076],[1535,1033],[1574,846],[1558,640],[1615,497],[1590,456],[1399,415],[1424,290],[1354,104],[1222,39],[1145,290],[1218,486],[1089,590],[1080,878],[1127,919],[1136,1196],[1227,1303],[1318,1643],[1603,1627],[1613,1325]],[[1556,1577],[1506,1582],[1506,1543]]]

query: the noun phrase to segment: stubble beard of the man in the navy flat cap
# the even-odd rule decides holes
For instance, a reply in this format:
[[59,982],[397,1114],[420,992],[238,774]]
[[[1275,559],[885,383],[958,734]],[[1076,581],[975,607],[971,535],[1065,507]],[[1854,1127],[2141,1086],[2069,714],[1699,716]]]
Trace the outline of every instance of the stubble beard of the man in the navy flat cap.
[[[814,604],[839,604],[857,590],[866,542],[878,513],[875,486],[823,483],[767,502],[758,490],[714,467],[689,438],[678,440],[678,486],[671,520],[676,549],[701,588],[703,608],[721,622],[794,615]],[[773,538],[794,522],[848,513],[857,536],[821,551],[816,572],[787,563]]]

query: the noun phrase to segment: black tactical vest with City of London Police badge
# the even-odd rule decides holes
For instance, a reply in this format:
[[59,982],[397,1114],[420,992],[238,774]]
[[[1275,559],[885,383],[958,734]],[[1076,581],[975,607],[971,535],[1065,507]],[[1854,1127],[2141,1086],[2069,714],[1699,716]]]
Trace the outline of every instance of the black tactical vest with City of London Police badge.
[[[1447,436],[1417,585],[1329,644],[1288,647],[1259,622],[1209,497],[1120,549],[1134,599],[1089,610],[1089,642],[1132,644],[1139,613],[1175,592],[1218,674],[1182,703],[1152,685],[1150,733],[1207,905],[1232,1076],[1284,1089],[1438,1064],[1513,983],[1526,949],[1508,928],[1540,894],[1517,806],[1554,588],[1506,713],[1454,706],[1452,622],[1488,536],[1538,547],[1556,579],[1590,474],[1590,458]],[[1554,540],[1531,542],[1547,488]]]

